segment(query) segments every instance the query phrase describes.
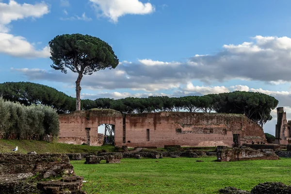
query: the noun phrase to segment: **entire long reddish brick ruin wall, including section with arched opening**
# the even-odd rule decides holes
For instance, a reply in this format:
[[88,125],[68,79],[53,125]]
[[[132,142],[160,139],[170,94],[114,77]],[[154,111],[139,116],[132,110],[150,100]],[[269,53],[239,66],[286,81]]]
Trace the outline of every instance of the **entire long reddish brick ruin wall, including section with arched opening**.
[[160,112],[121,114],[110,109],[61,114],[59,142],[101,146],[101,124],[115,127],[116,146],[233,146],[265,141],[263,129],[242,114]]

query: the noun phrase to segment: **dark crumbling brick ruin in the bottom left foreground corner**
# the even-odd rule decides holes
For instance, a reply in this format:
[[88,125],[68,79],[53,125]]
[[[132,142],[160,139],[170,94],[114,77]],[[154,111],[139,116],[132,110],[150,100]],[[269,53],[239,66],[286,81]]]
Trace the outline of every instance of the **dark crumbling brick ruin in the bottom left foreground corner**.
[[83,194],[82,180],[65,154],[0,153],[0,194]]

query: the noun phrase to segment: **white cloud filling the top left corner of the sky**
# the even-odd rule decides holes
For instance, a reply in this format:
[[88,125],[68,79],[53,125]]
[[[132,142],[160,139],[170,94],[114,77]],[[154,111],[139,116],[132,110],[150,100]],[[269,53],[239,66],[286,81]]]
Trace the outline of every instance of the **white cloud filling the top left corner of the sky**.
[[9,32],[8,24],[13,20],[27,17],[38,18],[49,13],[49,6],[44,2],[18,4],[15,0],[9,3],[0,2],[0,32]]

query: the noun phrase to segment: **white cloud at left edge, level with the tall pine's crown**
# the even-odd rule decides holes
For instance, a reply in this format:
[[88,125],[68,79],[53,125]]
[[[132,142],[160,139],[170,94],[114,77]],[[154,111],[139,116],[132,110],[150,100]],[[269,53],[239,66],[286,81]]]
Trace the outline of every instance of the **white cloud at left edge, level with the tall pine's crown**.
[[37,50],[24,37],[8,33],[0,33],[0,52],[24,58],[47,58],[50,56],[49,46]]

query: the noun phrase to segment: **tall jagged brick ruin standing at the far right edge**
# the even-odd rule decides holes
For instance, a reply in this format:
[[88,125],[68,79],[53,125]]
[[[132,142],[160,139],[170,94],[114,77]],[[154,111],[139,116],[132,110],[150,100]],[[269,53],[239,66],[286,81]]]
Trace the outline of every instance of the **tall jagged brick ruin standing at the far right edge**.
[[275,144],[291,144],[291,121],[287,121],[283,107],[277,108]]

